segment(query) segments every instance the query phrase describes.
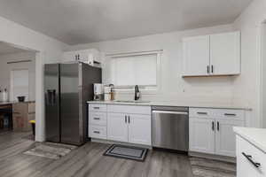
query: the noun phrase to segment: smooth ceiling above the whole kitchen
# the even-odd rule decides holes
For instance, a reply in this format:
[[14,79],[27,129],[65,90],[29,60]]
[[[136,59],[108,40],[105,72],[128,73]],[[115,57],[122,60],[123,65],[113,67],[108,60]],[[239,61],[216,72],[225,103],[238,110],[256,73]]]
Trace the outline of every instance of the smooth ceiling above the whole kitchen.
[[0,0],[0,16],[78,44],[233,22],[252,0]]

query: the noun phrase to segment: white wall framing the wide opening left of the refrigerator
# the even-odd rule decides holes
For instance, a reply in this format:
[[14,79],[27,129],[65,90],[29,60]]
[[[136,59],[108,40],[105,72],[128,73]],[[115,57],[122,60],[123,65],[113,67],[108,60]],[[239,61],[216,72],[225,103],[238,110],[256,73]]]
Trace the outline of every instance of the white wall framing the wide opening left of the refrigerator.
[[68,47],[51,37],[23,27],[8,19],[0,17],[0,41],[38,51],[35,60],[35,112],[36,112],[36,141],[44,137],[44,99],[43,99],[43,64],[57,62],[62,57],[62,51]]

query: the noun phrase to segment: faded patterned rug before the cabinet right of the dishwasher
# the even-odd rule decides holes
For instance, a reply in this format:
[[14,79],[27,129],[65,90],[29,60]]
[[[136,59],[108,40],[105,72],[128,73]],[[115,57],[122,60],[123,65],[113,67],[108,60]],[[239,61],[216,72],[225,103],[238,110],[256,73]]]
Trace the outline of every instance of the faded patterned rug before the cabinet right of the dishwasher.
[[236,164],[207,158],[190,158],[194,177],[236,177]]

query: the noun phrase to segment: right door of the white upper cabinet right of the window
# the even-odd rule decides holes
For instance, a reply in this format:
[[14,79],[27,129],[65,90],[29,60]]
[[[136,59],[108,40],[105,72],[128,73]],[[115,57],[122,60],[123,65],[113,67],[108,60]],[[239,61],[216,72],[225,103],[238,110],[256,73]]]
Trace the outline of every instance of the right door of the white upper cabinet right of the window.
[[210,35],[210,72],[213,75],[240,73],[240,33]]

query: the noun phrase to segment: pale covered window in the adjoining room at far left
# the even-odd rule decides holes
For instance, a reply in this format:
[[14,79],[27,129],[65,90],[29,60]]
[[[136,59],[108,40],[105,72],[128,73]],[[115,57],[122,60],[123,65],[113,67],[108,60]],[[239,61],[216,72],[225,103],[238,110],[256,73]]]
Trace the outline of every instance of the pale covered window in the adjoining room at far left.
[[11,100],[16,101],[17,96],[25,96],[28,100],[28,70],[13,70],[11,73]]

